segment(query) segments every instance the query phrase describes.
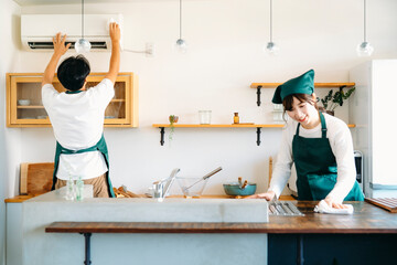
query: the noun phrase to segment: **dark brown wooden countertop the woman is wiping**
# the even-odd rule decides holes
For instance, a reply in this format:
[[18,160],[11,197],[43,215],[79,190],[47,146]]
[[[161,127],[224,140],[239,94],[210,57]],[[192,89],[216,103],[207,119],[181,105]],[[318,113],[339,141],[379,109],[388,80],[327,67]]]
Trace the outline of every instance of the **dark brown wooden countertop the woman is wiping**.
[[397,214],[367,202],[348,202],[354,214],[314,213],[318,202],[296,201],[304,216],[269,216],[269,223],[55,222],[46,232],[397,234]]

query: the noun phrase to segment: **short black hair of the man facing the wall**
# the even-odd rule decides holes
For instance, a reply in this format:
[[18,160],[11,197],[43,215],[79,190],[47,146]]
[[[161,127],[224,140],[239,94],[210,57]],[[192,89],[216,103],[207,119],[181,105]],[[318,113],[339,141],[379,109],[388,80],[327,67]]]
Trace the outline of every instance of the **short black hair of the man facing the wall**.
[[87,59],[83,55],[65,59],[57,68],[57,77],[68,91],[78,91],[89,75],[90,67]]

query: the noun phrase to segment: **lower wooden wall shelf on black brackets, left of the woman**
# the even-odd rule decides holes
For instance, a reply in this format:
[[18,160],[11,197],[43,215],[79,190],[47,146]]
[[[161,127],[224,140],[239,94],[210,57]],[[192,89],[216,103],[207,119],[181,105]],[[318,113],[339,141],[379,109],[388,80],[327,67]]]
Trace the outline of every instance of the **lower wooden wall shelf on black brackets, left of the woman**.
[[[153,124],[154,128],[160,128],[160,145],[164,145],[164,132],[165,128],[170,128],[170,124]],[[261,128],[282,128],[285,124],[239,124],[239,125],[223,125],[223,124],[214,124],[214,125],[198,125],[198,124],[174,124],[174,128],[256,128],[257,132],[257,146],[260,146],[260,134]],[[347,125],[348,128],[354,128],[355,125]]]

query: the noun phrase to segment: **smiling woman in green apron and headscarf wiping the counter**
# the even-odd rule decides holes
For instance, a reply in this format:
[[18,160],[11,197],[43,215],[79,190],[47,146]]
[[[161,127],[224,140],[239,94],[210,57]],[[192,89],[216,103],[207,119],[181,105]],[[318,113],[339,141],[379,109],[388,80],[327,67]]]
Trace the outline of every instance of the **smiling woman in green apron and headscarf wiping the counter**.
[[276,88],[272,103],[282,104],[290,119],[268,191],[250,198],[278,198],[294,163],[298,200],[324,200],[336,209],[346,208],[343,201],[364,200],[355,179],[350,129],[341,119],[319,112],[313,80],[310,70]]

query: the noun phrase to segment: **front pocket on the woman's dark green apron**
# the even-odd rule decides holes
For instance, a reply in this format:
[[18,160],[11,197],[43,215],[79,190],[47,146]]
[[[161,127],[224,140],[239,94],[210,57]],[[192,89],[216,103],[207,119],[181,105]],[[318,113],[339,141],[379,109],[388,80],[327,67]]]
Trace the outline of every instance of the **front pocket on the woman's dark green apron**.
[[308,174],[313,201],[320,201],[331,192],[336,183],[336,174]]

